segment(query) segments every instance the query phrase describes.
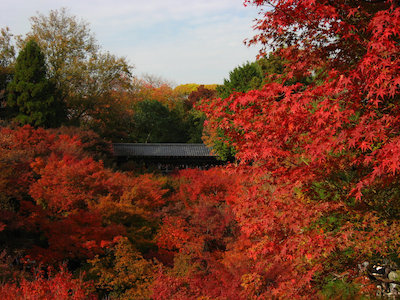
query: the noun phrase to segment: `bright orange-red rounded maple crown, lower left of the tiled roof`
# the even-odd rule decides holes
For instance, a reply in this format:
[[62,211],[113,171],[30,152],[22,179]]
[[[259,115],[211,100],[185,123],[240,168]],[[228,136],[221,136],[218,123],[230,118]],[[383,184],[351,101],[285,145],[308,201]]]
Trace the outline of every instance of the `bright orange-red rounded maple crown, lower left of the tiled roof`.
[[101,196],[123,193],[124,176],[104,169],[92,158],[51,155],[43,168],[42,164],[40,159],[32,163],[40,179],[31,185],[30,195],[54,213],[88,208]]

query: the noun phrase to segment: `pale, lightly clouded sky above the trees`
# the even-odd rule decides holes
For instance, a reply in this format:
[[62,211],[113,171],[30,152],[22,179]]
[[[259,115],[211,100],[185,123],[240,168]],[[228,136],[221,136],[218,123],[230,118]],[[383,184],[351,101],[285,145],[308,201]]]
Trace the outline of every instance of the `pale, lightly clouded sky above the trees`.
[[243,43],[257,17],[243,0],[3,0],[0,28],[24,35],[30,17],[62,7],[90,24],[104,51],[126,57],[138,77],[221,84],[259,50]]

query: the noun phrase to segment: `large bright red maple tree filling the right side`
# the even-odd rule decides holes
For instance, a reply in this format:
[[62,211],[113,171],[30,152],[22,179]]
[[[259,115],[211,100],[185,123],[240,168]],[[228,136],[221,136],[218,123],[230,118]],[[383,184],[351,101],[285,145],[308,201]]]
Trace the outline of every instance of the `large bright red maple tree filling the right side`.
[[[361,260],[398,255],[400,7],[246,3],[269,6],[249,42],[277,49],[288,77],[203,110],[250,176],[232,209],[251,241],[258,297],[309,298],[332,272],[353,280]],[[313,82],[286,85],[299,74]]]

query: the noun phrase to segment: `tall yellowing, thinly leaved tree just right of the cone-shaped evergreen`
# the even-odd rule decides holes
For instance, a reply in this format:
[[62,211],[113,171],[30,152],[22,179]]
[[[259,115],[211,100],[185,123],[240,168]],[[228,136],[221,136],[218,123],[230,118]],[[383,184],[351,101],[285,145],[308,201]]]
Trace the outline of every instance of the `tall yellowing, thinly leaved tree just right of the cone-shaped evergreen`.
[[126,59],[101,51],[89,24],[65,8],[32,17],[27,40],[31,38],[45,54],[49,77],[61,92],[73,124],[96,123],[101,110],[116,101],[112,92],[130,85],[132,67]]

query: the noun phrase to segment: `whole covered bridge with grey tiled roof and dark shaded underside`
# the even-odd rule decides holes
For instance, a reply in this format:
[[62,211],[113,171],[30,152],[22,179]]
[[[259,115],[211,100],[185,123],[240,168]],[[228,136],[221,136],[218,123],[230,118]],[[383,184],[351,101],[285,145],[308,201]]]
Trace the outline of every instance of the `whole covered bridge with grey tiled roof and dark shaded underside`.
[[207,169],[223,164],[204,144],[116,143],[113,151],[120,166],[133,162],[163,173],[186,168]]

